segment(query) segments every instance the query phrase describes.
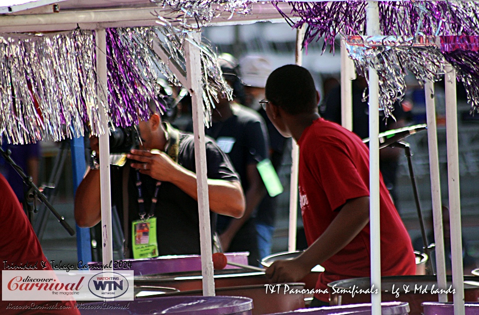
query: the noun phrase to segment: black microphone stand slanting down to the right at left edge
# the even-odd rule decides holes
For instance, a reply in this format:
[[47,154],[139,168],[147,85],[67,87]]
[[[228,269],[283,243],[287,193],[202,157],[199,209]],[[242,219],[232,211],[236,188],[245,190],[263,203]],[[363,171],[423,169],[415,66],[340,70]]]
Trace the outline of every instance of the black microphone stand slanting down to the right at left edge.
[[23,183],[25,183],[26,186],[28,186],[28,191],[25,193],[25,201],[27,203],[27,208],[28,208],[28,220],[30,220],[30,223],[32,222],[33,219],[33,206],[32,204],[34,203],[35,197],[38,198],[45,206],[55,215],[55,217],[58,219],[58,222],[66,229],[68,234],[71,236],[75,235],[75,231],[68,225],[68,223],[65,221],[65,218],[58,214],[58,212],[53,209],[53,206],[48,202],[48,199],[45,197],[45,195],[40,192],[38,187],[32,182],[32,178],[30,176],[27,176],[21,167],[19,167],[10,157],[10,150],[7,150],[6,152],[3,151],[0,148],[0,155],[3,156],[5,161],[10,164],[13,169],[20,175],[20,177],[23,180]]

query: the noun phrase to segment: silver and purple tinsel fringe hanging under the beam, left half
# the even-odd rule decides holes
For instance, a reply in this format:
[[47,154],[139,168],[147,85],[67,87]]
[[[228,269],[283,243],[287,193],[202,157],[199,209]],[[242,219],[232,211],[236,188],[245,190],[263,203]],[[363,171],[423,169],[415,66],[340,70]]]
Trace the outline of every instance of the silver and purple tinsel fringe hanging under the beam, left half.
[[[107,35],[108,82],[101,84],[108,86],[108,105],[96,95],[91,31],[1,36],[0,139],[14,144],[59,141],[83,136],[85,125],[92,134],[103,134],[99,106],[105,107],[115,126],[148,118],[150,99],[164,110],[166,106],[157,98],[161,88],[157,79],[163,75],[174,85],[180,83],[153,45],[163,47],[184,72],[187,33],[164,21],[160,27],[118,28],[108,30]],[[232,98],[232,91],[211,46],[194,44],[201,50],[205,124],[209,126],[214,101],[220,95]]]

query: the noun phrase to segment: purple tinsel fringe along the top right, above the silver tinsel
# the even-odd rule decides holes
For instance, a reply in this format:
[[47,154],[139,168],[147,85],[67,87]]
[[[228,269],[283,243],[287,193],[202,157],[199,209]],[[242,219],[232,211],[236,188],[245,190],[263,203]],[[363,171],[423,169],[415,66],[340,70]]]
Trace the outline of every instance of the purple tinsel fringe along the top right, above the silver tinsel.
[[[334,51],[334,39],[366,33],[367,1],[288,2],[289,14],[280,14],[292,27],[308,25],[303,46],[324,37]],[[381,1],[378,3],[383,35],[478,35],[479,5],[469,1]],[[299,17],[293,21],[291,17]]]

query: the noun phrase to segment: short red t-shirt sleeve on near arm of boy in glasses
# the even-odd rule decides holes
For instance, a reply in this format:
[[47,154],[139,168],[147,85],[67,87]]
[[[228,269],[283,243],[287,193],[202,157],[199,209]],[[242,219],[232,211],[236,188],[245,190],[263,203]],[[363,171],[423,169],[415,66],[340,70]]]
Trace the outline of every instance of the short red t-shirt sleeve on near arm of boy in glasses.
[[369,183],[359,175],[347,147],[337,139],[317,140],[317,150],[312,157],[316,163],[311,164],[311,171],[322,183],[331,210],[337,210],[349,199],[369,196]]

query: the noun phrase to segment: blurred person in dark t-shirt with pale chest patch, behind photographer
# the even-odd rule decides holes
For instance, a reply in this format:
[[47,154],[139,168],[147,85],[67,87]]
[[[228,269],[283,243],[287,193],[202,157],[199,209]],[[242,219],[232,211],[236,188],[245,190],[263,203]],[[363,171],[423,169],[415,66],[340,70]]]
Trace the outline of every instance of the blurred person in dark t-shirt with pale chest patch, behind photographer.
[[[233,88],[236,102],[244,102],[244,90],[238,77],[236,60],[220,56],[223,76]],[[265,188],[256,165],[268,157],[268,135],[263,118],[251,108],[221,97],[212,112],[213,123],[205,133],[215,139],[229,155],[240,175],[246,199],[246,210],[239,219],[219,215],[217,230],[224,251],[248,251],[248,264],[257,265],[258,253],[254,212],[265,195]]]

